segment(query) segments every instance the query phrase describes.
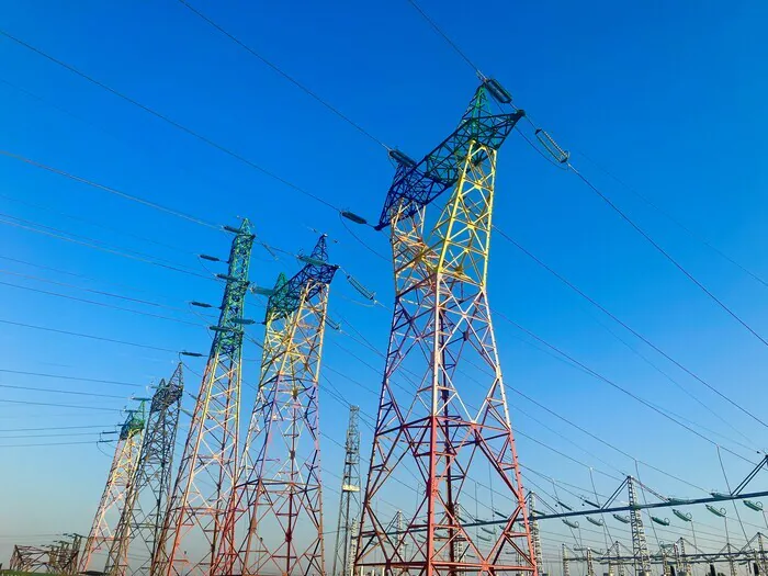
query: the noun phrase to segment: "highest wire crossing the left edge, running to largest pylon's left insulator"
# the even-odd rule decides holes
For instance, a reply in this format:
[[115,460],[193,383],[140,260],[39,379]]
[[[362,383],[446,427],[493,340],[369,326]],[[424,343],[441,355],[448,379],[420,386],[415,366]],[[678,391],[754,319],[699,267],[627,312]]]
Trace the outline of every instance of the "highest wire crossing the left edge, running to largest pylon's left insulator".
[[7,38],[9,38],[9,39],[15,42],[15,43],[19,44],[20,46],[23,46],[23,47],[25,47],[25,48],[27,48],[27,49],[34,52],[35,54],[38,54],[39,56],[43,56],[44,58],[48,59],[49,61],[52,61],[52,63],[54,63],[54,64],[56,64],[56,65],[58,65],[58,66],[60,66],[60,67],[63,67],[63,68],[69,70],[70,72],[72,72],[72,74],[79,76],[80,78],[82,78],[82,79],[84,79],[84,80],[88,80],[89,82],[91,82],[91,83],[94,84],[94,86],[98,86],[98,87],[101,88],[102,90],[105,90],[105,91],[108,91],[108,92],[110,92],[110,93],[116,95],[117,98],[121,98],[122,100],[128,102],[129,104],[133,104],[134,106],[136,106],[136,108],[138,108],[138,109],[140,109],[140,110],[143,110],[143,111],[145,111],[145,112],[147,112],[148,114],[151,114],[153,116],[155,116],[155,117],[157,117],[157,118],[159,118],[159,120],[166,122],[167,124],[173,126],[174,128],[182,131],[183,133],[185,133],[185,134],[188,134],[188,135],[190,135],[190,136],[192,136],[192,137],[199,139],[200,142],[202,142],[202,143],[204,143],[204,144],[206,144],[206,145],[208,145],[208,146],[211,146],[211,147],[213,147],[213,148],[216,148],[216,149],[219,150],[219,151],[223,151],[223,153],[226,154],[227,156],[230,156],[231,158],[235,158],[236,160],[238,160],[238,161],[245,163],[246,166],[249,166],[250,168],[255,168],[256,170],[258,170],[259,172],[263,173],[264,176],[268,176],[268,177],[272,178],[273,180],[276,180],[276,181],[279,181],[279,182],[285,184],[286,187],[289,187],[289,188],[295,190],[296,192],[300,192],[301,194],[304,194],[304,195],[306,195],[306,196],[308,196],[308,197],[310,197],[310,199],[313,199],[313,200],[315,200],[315,201],[317,201],[317,202],[324,204],[325,206],[327,206],[327,207],[329,207],[329,208],[331,208],[331,210],[335,210],[336,212],[341,212],[341,208],[339,208],[339,207],[335,206],[334,204],[331,204],[330,202],[324,200],[321,196],[318,196],[317,194],[314,194],[314,193],[312,193],[312,192],[309,192],[309,191],[307,191],[307,190],[305,190],[305,189],[303,189],[303,188],[301,188],[301,187],[294,184],[293,182],[290,182],[289,180],[285,180],[284,178],[278,176],[276,173],[271,172],[270,170],[267,170],[266,168],[263,168],[263,167],[257,165],[256,162],[249,160],[249,159],[246,158],[245,156],[242,156],[242,155],[240,155],[240,154],[238,154],[238,153],[231,150],[230,148],[227,148],[227,147],[225,147],[225,146],[223,146],[223,145],[221,145],[221,144],[217,144],[216,142],[212,140],[211,138],[208,138],[208,137],[206,137],[206,136],[203,136],[203,135],[200,134],[199,132],[195,132],[195,131],[193,131],[192,128],[189,128],[189,127],[184,126],[183,124],[180,124],[179,122],[177,122],[177,121],[174,121],[174,120],[171,120],[169,116],[167,116],[167,115],[165,115],[165,114],[161,114],[160,112],[157,112],[156,110],[154,110],[154,109],[151,109],[151,108],[149,108],[149,106],[147,106],[147,105],[145,105],[145,104],[142,104],[142,103],[138,102],[137,100],[134,100],[133,98],[131,98],[131,97],[128,97],[128,95],[126,95],[126,94],[124,94],[124,93],[122,93],[122,92],[115,90],[114,88],[111,88],[111,87],[106,86],[105,83],[103,83],[103,82],[97,80],[95,78],[93,78],[93,77],[91,77],[91,76],[88,76],[87,74],[84,74],[84,72],[78,70],[78,69],[75,68],[74,66],[70,66],[69,64],[67,64],[67,63],[65,63],[65,61],[61,61],[61,60],[55,58],[54,56],[50,56],[49,54],[44,53],[44,52],[41,50],[39,48],[36,48],[36,47],[32,46],[31,44],[27,44],[26,42],[24,42],[24,41],[22,41],[22,39],[20,39],[20,38],[18,38],[18,37],[15,37],[15,36],[12,36],[11,34],[9,34],[8,32],[5,32],[5,31],[3,31],[3,30],[0,30],[0,34],[2,34],[2,35],[5,36]]

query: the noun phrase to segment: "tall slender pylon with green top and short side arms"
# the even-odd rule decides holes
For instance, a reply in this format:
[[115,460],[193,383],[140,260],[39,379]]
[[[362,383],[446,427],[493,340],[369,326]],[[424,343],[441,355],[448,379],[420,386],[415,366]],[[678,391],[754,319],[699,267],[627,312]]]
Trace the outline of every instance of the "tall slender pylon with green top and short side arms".
[[[237,478],[240,360],[253,234],[247,219],[235,234],[218,324],[192,414],[179,474],[156,546],[153,576],[207,576],[219,546],[229,495]],[[206,257],[208,260],[217,260]],[[207,306],[207,305],[205,305]],[[189,556],[188,556],[189,554]]]

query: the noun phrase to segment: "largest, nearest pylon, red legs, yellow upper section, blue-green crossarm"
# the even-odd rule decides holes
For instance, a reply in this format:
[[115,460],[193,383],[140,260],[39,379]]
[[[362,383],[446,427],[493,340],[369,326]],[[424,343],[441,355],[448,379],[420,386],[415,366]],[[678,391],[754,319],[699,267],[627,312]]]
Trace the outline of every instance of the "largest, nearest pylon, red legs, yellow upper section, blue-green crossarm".
[[[489,95],[510,102],[486,80],[459,127],[423,160],[391,155],[399,166],[376,228],[391,227],[395,306],[355,574],[535,572],[487,303],[496,156],[524,113],[494,113]],[[443,193],[434,218],[428,208]],[[472,500],[468,486],[489,476],[510,510],[494,537],[479,538],[458,502]],[[406,547],[386,533],[384,515],[387,500],[415,483],[422,489],[406,512]]]

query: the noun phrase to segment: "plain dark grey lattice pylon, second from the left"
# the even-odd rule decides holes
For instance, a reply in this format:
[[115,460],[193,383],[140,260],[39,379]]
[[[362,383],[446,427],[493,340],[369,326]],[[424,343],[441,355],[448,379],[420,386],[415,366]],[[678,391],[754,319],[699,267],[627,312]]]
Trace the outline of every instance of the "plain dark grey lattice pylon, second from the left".
[[[168,383],[161,380],[153,395],[138,465],[115,531],[118,538],[110,546],[104,568],[108,576],[126,575],[129,552],[138,552],[139,557],[145,558],[132,574],[146,576],[149,573],[171,488],[176,432],[184,389],[181,366],[180,362]],[[134,544],[137,541],[142,545]]]

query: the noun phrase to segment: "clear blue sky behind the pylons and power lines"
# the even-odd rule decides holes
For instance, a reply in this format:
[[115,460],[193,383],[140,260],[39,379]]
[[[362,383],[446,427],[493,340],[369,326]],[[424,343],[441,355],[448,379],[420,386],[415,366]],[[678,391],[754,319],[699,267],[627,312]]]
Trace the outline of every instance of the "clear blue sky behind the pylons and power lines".
[[[768,127],[764,103],[768,7],[742,1],[727,7],[720,2],[558,1],[534,5],[492,1],[467,12],[465,3],[453,0],[423,0],[422,4],[486,75],[498,78],[519,106],[572,150],[583,172],[758,332],[768,335],[766,286],[692,239],[592,163],[619,176],[749,270],[768,276],[768,150],[764,138]],[[414,157],[421,157],[453,129],[475,89],[470,68],[405,0],[195,5],[377,138]],[[7,32],[332,204],[377,218],[392,178],[384,150],[181,4],[171,0],[5,2],[0,16]],[[1,149],[214,223],[233,224],[238,216],[248,216],[261,239],[290,251],[309,249],[314,230],[328,233],[337,240],[330,247],[332,258],[346,273],[375,290],[386,307],[355,303],[359,295],[339,275],[331,294],[331,315],[360,330],[379,350],[385,349],[392,302],[389,264],[358,244],[334,211],[8,39],[0,41],[0,52],[4,63],[0,72]],[[227,237],[216,231],[16,160],[0,158],[0,173],[4,222],[10,222],[9,216],[33,221],[203,274],[206,271],[194,255],[227,250]],[[573,174],[553,169],[517,135],[501,150],[495,218],[500,228],[688,368],[736,402],[763,413],[766,347],[703,296]],[[362,228],[355,231],[386,253],[384,235]],[[170,350],[207,350],[200,318],[185,308],[191,300],[221,297],[214,282],[5,223],[0,225],[0,282],[125,305],[197,326],[5,284],[0,284],[2,320]],[[274,261],[266,250],[257,249],[252,279],[271,284],[279,271],[293,273],[297,267],[290,258]],[[498,236],[490,268],[492,305],[498,310],[644,398],[715,432],[739,438],[619,342],[606,329],[610,328],[750,437],[752,445],[766,447],[763,427],[643,348]],[[132,305],[10,272],[182,309]],[[263,308],[255,303],[251,315],[260,319],[262,314]],[[645,462],[703,488],[725,489],[710,444],[532,348],[526,343],[529,338],[501,318],[496,318],[496,328],[510,385]],[[252,335],[260,337],[258,327]],[[2,370],[142,386],[169,376],[177,361],[170,352],[7,324],[0,326],[0,346],[4,350]],[[246,379],[252,382],[258,349],[249,345],[246,358],[250,360]],[[329,334],[325,362],[334,385],[364,413],[373,414],[375,397],[330,369],[376,388],[382,360],[349,337]],[[201,371],[202,362],[190,368]],[[140,392],[2,372],[0,384],[124,396]],[[187,385],[192,393],[199,385],[191,372]],[[95,434],[65,436],[92,432],[92,428],[13,430],[110,425],[122,418],[118,410],[127,400],[12,388],[0,388],[0,399],[104,408],[0,402],[0,560],[4,560],[13,542],[48,540],[36,534],[87,532],[109,466],[109,459],[93,443],[12,445],[94,441]],[[630,459],[516,395],[510,400],[521,432],[596,468],[611,472],[605,461],[621,471],[634,471]],[[324,432],[341,442],[346,409],[327,394],[320,402]],[[556,433],[531,420],[529,414]],[[58,436],[16,438],[39,433]],[[366,440],[370,430],[363,427],[363,460],[369,455]],[[723,443],[757,458],[726,440]],[[590,486],[584,466],[522,436],[518,449],[523,465],[585,489]],[[109,451],[110,445],[102,450]],[[324,466],[339,474],[339,448],[326,441],[323,450]],[[748,471],[743,461],[727,454],[724,459],[732,482]],[[641,476],[663,493],[702,495],[647,467],[641,466]],[[541,477],[530,477],[551,489]],[[326,478],[334,488],[339,483],[330,474]],[[595,479],[599,493],[610,494],[615,485],[599,474]],[[335,524],[336,506],[336,495],[327,493],[329,526]],[[743,510],[745,520],[752,518]],[[697,519],[709,522],[709,530],[721,531],[722,522],[704,517],[707,513],[697,511]],[[750,521],[760,523],[761,519]],[[562,524],[546,530],[565,533]],[[746,527],[749,534],[755,530]],[[734,532],[741,534],[741,530],[732,529]],[[557,537],[551,538],[545,547],[554,546]],[[584,538],[602,537],[585,532]]]

